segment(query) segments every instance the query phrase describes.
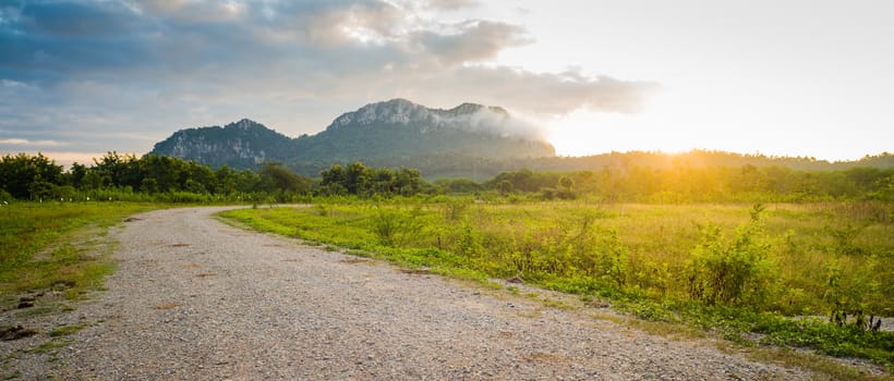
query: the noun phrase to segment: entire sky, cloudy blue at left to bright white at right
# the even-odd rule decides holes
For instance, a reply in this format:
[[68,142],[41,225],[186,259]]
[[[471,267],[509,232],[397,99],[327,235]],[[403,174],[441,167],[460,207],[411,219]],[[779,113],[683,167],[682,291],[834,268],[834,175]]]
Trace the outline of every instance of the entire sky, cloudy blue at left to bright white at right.
[[894,151],[886,0],[0,0],[0,153],[289,136],[406,98],[499,106],[563,156]]

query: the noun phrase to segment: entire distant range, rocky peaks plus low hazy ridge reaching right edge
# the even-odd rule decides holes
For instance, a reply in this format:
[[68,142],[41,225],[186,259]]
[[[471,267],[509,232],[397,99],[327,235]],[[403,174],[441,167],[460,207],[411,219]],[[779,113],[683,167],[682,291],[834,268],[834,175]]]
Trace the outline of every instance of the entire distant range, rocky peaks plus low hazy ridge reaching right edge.
[[804,171],[855,167],[894,168],[894,155],[829,162],[805,157],[769,157],[724,151],[685,153],[608,152],[557,157],[534,126],[498,107],[462,103],[430,109],[404,99],[366,105],[336,118],[316,135],[290,138],[243,119],[224,127],[188,128],[155,145],[153,153],[195,160],[212,167],[256,168],[281,162],[298,173],[316,176],[334,163],[362,161],[373,167],[411,167],[428,179],[476,181],[520,169],[579,171],[603,168],[785,167]]

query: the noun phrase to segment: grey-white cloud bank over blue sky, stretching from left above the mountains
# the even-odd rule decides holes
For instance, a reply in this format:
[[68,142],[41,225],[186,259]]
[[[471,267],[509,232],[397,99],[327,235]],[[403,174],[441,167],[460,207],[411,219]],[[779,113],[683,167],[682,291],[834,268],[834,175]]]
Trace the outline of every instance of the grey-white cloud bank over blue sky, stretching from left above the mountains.
[[148,150],[177,128],[252,118],[315,132],[396,97],[548,116],[636,112],[657,85],[488,61],[533,44],[462,0],[41,1],[0,5],[0,138]]

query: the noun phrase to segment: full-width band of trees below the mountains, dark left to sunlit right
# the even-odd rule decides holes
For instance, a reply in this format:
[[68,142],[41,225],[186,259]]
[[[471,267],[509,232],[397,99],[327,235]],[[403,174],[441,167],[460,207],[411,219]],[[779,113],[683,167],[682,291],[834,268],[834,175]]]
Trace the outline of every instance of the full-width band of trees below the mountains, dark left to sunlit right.
[[[685,157],[684,157],[685,158]],[[890,158],[890,155],[878,157]],[[507,171],[484,181],[440,179],[416,169],[331,164],[311,179],[275,162],[256,170],[212,169],[194,161],[109,152],[90,165],[68,170],[38,153],[0,159],[3,200],[141,199],[162,201],[273,200],[307,196],[524,195],[553,199],[588,197],[609,202],[722,202],[894,199],[894,169],[853,167],[806,171],[787,167],[710,165],[675,160],[669,165],[604,165],[593,171]]]

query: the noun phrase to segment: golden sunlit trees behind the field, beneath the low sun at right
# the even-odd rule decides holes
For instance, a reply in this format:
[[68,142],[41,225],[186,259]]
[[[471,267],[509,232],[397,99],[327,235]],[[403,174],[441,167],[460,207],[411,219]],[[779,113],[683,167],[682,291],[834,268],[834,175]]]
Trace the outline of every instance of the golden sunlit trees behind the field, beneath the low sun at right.
[[894,169],[853,168],[805,172],[782,167],[741,168],[675,165],[666,169],[625,165],[600,172],[503,172],[484,182],[500,195],[539,193],[543,199],[582,195],[606,201],[777,202],[833,199],[894,200]]

